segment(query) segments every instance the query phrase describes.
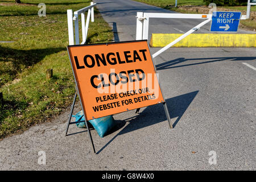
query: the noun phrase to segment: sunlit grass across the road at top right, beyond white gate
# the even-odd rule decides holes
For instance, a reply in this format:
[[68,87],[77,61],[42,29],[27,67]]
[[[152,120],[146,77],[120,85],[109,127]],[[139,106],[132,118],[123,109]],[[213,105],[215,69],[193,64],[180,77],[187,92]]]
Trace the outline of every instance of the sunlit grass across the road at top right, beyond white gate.
[[[181,6],[184,5],[193,5],[193,6],[204,6],[205,3],[203,0],[177,0],[177,7],[175,7],[175,0],[135,0],[138,2],[143,2],[147,3],[149,5],[154,5],[158,7],[162,7],[164,9],[172,10],[172,11],[177,11],[180,13],[198,13],[198,11],[195,10],[186,10]],[[237,10],[237,11],[246,11],[247,6],[217,6],[218,9],[225,9],[225,11],[230,11],[230,10]],[[254,12],[253,12],[254,11]],[[251,6],[251,12],[255,14],[256,11],[256,6]],[[243,14],[246,14],[244,12]],[[255,30],[256,29],[256,21],[255,19],[247,19],[247,20],[241,20],[241,24],[245,26],[249,30]]]

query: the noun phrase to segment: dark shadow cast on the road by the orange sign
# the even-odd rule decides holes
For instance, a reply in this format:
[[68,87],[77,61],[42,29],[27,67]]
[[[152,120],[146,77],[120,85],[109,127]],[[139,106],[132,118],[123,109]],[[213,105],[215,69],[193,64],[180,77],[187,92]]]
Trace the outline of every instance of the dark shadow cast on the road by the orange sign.
[[[194,100],[198,92],[199,91],[197,90],[195,92],[168,98],[166,100],[171,119],[173,120],[174,118],[176,118],[175,121],[172,121],[174,122],[173,127],[175,127],[177,123],[180,121],[181,117],[188,109],[188,106]],[[119,131],[117,135],[115,135],[111,140],[109,140],[109,142],[106,143],[105,146],[102,147],[96,154],[100,154],[100,152],[104,150],[104,148],[108,146],[115,138],[117,138],[118,135],[126,134],[134,130],[139,130],[144,127],[155,125],[163,121],[167,122],[167,118],[164,113],[164,108],[162,104],[148,106],[138,115],[135,115],[131,118],[127,118],[125,119],[125,121],[115,121],[117,122],[117,126],[110,133],[113,133],[114,131],[121,129],[123,126],[126,125],[126,122],[128,122],[128,124],[121,131]]]

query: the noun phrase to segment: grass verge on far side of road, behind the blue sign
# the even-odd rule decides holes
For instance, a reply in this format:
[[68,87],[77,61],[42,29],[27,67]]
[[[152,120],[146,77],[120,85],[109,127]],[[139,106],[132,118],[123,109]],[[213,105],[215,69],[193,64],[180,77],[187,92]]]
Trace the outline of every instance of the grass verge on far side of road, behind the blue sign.
[[[199,13],[208,14],[209,7],[205,6],[203,0],[177,0],[177,7],[175,7],[175,0],[135,0],[138,2],[147,3],[162,7],[179,13]],[[217,11],[241,11],[243,15],[246,15],[246,6],[217,6]],[[241,20],[241,27],[247,30],[256,30],[256,6],[251,6],[250,19]]]

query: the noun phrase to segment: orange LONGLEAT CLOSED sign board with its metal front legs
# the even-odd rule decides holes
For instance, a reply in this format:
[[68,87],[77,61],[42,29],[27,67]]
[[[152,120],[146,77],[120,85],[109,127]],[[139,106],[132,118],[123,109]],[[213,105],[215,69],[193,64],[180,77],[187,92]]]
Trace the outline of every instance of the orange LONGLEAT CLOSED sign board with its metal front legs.
[[[147,40],[67,49],[88,131],[90,119],[159,103],[163,104],[172,128]],[[88,134],[95,152],[90,131]]]

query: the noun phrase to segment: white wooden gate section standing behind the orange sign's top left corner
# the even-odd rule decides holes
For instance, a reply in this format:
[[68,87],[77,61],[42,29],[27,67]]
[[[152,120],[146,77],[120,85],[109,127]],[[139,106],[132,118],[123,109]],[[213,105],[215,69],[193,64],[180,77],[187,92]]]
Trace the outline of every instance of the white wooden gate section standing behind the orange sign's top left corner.
[[[72,10],[67,10],[67,15],[68,15],[68,40],[69,40],[69,45],[78,45],[80,44],[79,40],[79,15],[81,14],[81,26],[82,26],[82,42],[81,44],[86,43],[86,38],[88,34],[88,27],[89,27],[89,22],[90,19],[92,22],[94,22],[94,9],[93,7],[96,5],[96,3],[90,2],[90,6],[84,7],[80,10],[77,10],[74,12],[73,16],[73,11]],[[86,23],[85,23],[85,12],[88,11],[87,13],[87,18],[86,18]],[[73,30],[73,20],[75,23],[75,41],[74,42],[74,30]]]

